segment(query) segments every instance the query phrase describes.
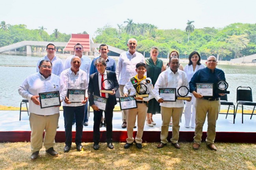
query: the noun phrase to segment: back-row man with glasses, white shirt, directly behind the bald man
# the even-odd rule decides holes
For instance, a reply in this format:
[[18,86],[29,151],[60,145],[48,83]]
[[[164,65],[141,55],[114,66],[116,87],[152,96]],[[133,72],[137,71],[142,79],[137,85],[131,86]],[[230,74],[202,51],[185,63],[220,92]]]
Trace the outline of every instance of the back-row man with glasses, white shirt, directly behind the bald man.
[[[78,56],[80,58],[80,60],[81,60],[80,69],[85,71],[85,73],[87,74],[88,80],[89,80],[91,59],[89,57],[86,57],[85,55],[83,55],[83,46],[80,43],[77,43],[74,46],[74,55],[72,55],[66,59],[65,64],[64,64],[64,69],[68,69],[71,67],[70,63],[71,63],[72,57],[74,57],[74,56]],[[74,118],[73,124],[75,122],[76,122],[76,119]],[[83,120],[83,125],[88,126],[88,102],[86,102],[86,104],[85,104],[85,116],[84,116],[84,120]]]

